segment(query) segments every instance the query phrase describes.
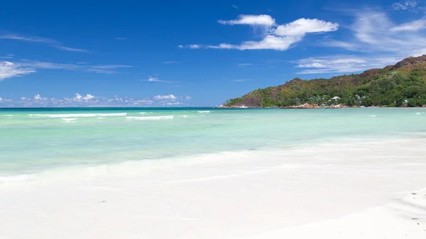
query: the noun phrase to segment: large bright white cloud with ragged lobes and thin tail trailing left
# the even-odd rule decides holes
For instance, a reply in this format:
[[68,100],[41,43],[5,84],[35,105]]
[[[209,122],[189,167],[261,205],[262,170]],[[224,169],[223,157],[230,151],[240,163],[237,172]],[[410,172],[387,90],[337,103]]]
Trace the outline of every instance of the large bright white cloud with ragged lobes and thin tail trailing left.
[[240,15],[236,20],[219,20],[224,25],[249,25],[253,28],[263,28],[261,40],[247,40],[239,45],[221,43],[219,45],[179,45],[179,48],[209,48],[236,50],[288,50],[293,44],[303,40],[307,33],[325,33],[335,31],[339,24],[319,19],[300,18],[291,23],[278,25],[269,15]]

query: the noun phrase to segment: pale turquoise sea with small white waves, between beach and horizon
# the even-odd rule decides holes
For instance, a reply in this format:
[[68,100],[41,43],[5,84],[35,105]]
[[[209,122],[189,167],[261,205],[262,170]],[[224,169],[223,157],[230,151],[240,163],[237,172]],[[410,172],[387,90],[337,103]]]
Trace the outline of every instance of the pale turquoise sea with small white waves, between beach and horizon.
[[413,137],[426,109],[0,109],[0,177]]

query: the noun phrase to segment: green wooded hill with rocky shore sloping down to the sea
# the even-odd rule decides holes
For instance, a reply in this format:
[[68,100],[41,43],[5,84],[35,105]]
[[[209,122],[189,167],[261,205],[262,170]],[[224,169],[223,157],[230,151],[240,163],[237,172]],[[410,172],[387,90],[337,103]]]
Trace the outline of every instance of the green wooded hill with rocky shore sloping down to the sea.
[[[295,78],[277,87],[256,89],[229,99],[229,107],[345,104],[347,106],[424,106],[426,55],[408,57],[393,66],[330,79]],[[337,97],[336,97],[337,96]]]

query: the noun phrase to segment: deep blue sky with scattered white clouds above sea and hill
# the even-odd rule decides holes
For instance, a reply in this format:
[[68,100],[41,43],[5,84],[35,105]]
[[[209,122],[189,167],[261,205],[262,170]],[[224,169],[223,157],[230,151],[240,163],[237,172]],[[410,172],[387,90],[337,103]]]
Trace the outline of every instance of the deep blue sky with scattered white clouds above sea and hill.
[[0,106],[217,106],[426,54],[423,1],[6,1]]

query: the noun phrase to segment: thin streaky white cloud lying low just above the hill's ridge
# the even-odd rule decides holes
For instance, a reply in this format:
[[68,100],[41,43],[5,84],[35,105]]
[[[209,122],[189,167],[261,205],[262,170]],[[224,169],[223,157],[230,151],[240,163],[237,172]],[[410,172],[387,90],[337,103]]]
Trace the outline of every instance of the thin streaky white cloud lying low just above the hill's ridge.
[[401,59],[388,56],[356,57],[353,55],[336,55],[297,60],[296,67],[304,69],[297,72],[298,74],[350,73],[393,65],[399,60]]

